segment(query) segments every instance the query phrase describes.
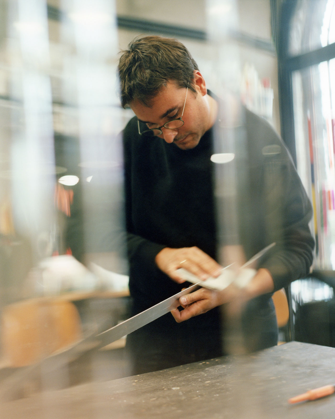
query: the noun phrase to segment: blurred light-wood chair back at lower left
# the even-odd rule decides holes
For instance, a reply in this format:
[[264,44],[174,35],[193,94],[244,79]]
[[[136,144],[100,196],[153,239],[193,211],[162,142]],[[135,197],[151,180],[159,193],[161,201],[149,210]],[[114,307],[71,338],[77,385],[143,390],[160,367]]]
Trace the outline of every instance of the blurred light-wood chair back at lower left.
[[1,352],[8,367],[32,365],[80,339],[80,316],[70,301],[36,298],[3,309]]

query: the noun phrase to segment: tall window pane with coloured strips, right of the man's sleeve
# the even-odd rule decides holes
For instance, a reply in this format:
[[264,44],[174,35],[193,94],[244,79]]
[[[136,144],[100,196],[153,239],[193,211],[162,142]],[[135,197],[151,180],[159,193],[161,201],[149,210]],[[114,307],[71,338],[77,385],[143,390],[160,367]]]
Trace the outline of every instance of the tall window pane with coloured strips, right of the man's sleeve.
[[335,59],[292,74],[297,168],[313,202],[315,267],[335,269]]

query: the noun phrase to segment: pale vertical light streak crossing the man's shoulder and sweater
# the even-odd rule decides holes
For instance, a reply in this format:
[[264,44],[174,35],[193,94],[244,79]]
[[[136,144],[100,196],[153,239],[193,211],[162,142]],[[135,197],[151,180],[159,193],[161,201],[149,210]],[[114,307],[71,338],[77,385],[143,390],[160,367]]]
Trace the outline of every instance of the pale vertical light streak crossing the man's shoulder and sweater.
[[[240,124],[240,60],[232,34],[237,30],[237,10],[234,0],[207,0],[207,27],[209,41],[214,49],[212,85],[222,99],[219,109],[219,124],[215,127],[214,153],[236,155],[236,146],[243,141],[243,133],[237,138],[235,128]],[[219,247],[239,245],[237,219],[237,159],[215,166],[215,195],[217,200],[217,220]],[[226,260],[220,251],[220,262]]]

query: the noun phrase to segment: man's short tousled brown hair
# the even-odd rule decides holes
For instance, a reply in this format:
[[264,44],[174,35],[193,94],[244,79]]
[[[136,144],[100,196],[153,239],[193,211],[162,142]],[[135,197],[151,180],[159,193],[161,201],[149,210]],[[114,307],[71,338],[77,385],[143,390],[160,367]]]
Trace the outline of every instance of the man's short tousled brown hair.
[[122,52],[118,67],[123,107],[133,100],[150,106],[151,99],[169,80],[180,88],[188,86],[195,91],[192,79],[198,65],[181,42],[144,36],[135,38],[128,47]]

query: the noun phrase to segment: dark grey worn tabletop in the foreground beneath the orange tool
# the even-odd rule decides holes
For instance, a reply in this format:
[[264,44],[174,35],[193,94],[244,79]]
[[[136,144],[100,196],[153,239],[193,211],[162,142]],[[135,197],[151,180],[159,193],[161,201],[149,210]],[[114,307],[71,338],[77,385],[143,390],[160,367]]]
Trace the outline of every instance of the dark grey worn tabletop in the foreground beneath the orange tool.
[[288,398],[335,383],[335,349],[300,342],[2,403],[2,419],[334,418],[335,395]]

